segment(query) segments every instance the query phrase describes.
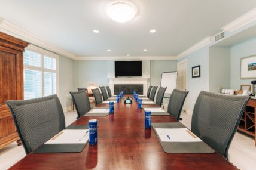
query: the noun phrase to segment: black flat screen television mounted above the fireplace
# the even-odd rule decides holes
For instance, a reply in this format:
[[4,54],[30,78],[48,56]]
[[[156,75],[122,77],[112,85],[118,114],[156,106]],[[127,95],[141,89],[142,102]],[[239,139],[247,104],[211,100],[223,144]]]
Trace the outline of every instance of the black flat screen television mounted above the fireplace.
[[115,77],[142,76],[142,61],[115,61]]

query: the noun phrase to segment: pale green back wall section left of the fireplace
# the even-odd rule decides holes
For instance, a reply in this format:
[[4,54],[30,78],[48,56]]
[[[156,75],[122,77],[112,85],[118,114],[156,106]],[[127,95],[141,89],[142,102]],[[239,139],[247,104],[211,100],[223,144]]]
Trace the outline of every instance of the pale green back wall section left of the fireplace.
[[107,61],[78,61],[77,63],[77,87],[87,87],[89,84],[96,86],[108,85]]

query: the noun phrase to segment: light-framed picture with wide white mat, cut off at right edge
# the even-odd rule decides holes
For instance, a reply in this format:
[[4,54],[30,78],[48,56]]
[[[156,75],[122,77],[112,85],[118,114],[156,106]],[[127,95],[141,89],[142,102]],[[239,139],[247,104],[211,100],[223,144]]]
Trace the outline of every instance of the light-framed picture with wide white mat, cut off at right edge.
[[240,79],[256,78],[256,55],[241,58]]

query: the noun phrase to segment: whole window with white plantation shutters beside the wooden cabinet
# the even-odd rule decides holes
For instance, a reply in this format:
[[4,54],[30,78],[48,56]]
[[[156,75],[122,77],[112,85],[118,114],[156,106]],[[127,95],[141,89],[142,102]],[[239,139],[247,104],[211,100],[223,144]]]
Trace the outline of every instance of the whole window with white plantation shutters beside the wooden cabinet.
[[57,94],[58,55],[29,45],[24,52],[24,99]]

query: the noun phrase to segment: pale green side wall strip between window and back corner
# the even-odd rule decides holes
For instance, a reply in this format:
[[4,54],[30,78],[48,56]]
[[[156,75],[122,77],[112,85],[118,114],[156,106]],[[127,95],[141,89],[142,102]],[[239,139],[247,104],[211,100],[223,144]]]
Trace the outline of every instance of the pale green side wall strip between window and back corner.
[[59,57],[59,98],[63,108],[72,104],[69,91],[75,90],[75,63],[70,58]]

